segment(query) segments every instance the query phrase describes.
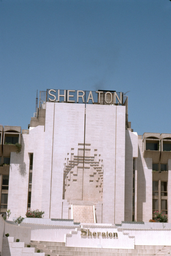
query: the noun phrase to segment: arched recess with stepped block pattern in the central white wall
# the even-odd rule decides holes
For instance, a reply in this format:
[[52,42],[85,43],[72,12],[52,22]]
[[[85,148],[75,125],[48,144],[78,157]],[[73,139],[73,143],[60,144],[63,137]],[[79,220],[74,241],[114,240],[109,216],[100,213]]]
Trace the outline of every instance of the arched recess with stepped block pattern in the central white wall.
[[102,201],[103,160],[91,144],[78,143],[64,162],[63,199]]

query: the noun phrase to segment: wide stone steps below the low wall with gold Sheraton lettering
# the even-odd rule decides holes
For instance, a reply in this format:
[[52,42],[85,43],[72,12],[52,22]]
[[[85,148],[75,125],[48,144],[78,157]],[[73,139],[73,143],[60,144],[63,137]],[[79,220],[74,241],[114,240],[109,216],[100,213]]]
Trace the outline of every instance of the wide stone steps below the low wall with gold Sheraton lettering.
[[[31,246],[36,247],[36,251],[44,252],[45,256],[154,256],[162,246],[135,246],[135,249],[107,249],[107,248],[82,248],[66,247],[65,243],[31,241]],[[165,254],[162,254],[165,255]]]

